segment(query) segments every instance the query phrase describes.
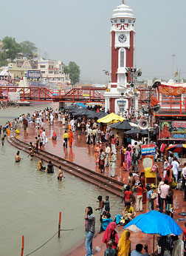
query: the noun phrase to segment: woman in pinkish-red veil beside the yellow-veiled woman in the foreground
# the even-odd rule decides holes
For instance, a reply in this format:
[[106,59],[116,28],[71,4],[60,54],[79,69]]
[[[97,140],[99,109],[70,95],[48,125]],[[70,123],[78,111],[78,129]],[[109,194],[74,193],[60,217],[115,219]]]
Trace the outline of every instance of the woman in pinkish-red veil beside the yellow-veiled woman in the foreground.
[[117,236],[117,232],[116,232],[115,228],[116,228],[116,223],[111,222],[108,224],[106,231],[104,232],[102,241],[103,241],[103,243],[106,243],[107,248],[108,248],[108,241],[114,240],[111,248],[117,249],[117,244],[119,243],[119,238]]

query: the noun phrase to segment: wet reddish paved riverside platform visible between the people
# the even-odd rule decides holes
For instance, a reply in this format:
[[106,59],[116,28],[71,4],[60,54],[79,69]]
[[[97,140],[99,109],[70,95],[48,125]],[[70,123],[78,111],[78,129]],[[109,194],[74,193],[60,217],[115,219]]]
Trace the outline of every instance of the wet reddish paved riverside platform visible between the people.
[[[44,146],[43,150],[45,150],[46,152],[50,152],[54,155],[58,155],[61,158],[65,158],[66,160],[72,161],[75,164],[85,166],[86,168],[92,169],[95,172],[100,172],[98,170],[98,166],[95,163],[94,145],[86,144],[86,135],[82,135],[81,132],[75,131],[72,148],[69,148],[69,144],[68,144],[68,148],[65,149],[63,148],[63,133],[65,130],[68,130],[67,127],[62,126],[62,124],[59,124],[58,121],[54,121],[53,125],[50,125],[48,123],[44,124],[44,129],[46,129],[48,142]],[[27,144],[29,144],[30,141],[32,141],[32,143],[35,143],[35,136],[39,134],[39,130],[35,129],[34,124],[29,124],[27,131],[24,131],[24,129],[20,129],[20,131],[21,132],[20,132],[20,135],[18,135],[18,139],[21,141],[27,142]],[[57,134],[58,138],[56,141],[52,141],[51,139],[53,132]],[[105,149],[105,143],[102,144],[102,148],[103,150]],[[158,164],[159,164],[159,172],[162,175],[162,163],[158,163]],[[139,161],[139,170],[141,171],[140,161]],[[110,176],[110,174],[111,174],[110,168],[106,167],[106,171],[104,175]],[[117,151],[117,167],[116,167],[116,176],[114,179],[121,182],[125,181],[126,183],[128,181],[128,172],[124,171],[120,165],[120,150]],[[183,194],[184,192],[182,191],[173,190],[173,202],[176,208],[176,212],[174,213],[174,216],[173,216],[174,219],[184,218],[179,215],[180,212],[186,212],[186,202],[183,201],[183,198],[184,198]],[[135,205],[134,205],[134,209],[135,209]],[[156,206],[155,206],[155,209],[157,209]],[[143,204],[142,213],[145,213],[145,212],[148,212],[148,203]],[[137,215],[139,215],[138,212],[137,212]],[[184,229],[185,222],[186,220],[182,222],[177,222],[177,223],[179,224],[181,229]],[[120,237],[123,232],[123,228],[121,226],[117,227],[117,232]],[[97,255],[97,256],[103,255],[103,252],[106,249],[105,244],[102,243],[102,238],[103,238],[103,233],[100,235],[97,235],[93,240],[94,249],[96,246],[100,247],[100,252],[94,252],[94,255]],[[180,238],[182,238],[182,235],[180,235]],[[135,249],[135,245],[137,243],[143,243],[143,244],[147,243],[149,247],[149,253],[152,252],[153,235],[143,234],[142,232],[140,233],[131,232],[130,239],[131,239],[131,249]],[[75,249],[72,249],[72,252],[63,254],[63,256],[64,255],[83,256],[85,254],[86,254],[86,249],[84,244],[82,243],[81,245],[77,246]]]

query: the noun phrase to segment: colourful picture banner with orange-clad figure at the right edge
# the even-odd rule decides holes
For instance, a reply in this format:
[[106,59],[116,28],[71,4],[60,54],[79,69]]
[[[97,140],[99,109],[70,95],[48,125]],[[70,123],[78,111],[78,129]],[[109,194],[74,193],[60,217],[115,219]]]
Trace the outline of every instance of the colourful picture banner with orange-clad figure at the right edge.
[[186,121],[160,121],[159,139],[185,140]]

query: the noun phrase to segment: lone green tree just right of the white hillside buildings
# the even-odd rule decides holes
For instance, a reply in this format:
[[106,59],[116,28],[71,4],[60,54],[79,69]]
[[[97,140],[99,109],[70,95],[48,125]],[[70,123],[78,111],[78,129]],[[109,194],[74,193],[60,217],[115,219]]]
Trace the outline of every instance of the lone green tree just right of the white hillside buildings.
[[80,81],[80,67],[74,61],[70,61],[69,65],[64,67],[64,73],[69,73],[72,85]]

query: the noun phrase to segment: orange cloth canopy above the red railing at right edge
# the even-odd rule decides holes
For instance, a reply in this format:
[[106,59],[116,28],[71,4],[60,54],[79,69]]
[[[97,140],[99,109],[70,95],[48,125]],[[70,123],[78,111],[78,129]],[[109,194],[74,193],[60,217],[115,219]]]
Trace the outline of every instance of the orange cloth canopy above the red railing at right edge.
[[186,93],[186,83],[164,83],[157,90],[163,95],[178,96]]

